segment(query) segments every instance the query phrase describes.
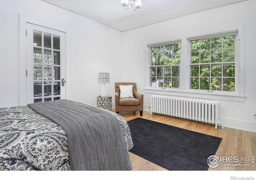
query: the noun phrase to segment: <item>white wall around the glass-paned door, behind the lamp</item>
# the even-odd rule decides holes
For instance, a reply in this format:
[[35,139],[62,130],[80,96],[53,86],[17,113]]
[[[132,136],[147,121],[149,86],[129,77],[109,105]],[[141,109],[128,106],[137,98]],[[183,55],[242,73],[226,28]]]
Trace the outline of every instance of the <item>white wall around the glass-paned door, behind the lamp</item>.
[[0,107],[25,105],[19,103],[19,15],[69,28],[68,99],[96,105],[98,72],[110,73],[106,91],[114,96],[114,82],[122,81],[121,32],[46,2],[0,1]]

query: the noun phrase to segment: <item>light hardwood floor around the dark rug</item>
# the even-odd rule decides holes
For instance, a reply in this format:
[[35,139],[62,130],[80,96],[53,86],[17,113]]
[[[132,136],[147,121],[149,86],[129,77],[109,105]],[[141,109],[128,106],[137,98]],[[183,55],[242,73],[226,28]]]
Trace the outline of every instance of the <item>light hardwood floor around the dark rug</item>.
[[[114,111],[114,110],[113,110]],[[176,126],[179,128],[184,128],[187,130],[192,130],[195,132],[200,132],[203,134],[208,134],[211,136],[217,136],[222,138],[222,142],[216,152],[216,156],[238,156],[238,158],[244,158],[244,162],[248,160],[248,158],[252,158],[252,156],[256,156],[256,133],[248,132],[244,130],[237,130],[232,128],[226,128],[224,126],[224,130],[221,129],[221,126],[218,126],[218,129],[215,129],[214,125],[196,122],[192,120],[185,120],[180,118],[173,118],[170,116],[164,116],[160,114],[150,114],[146,111],[143,112],[143,116],[140,116],[139,112],[120,112],[121,116],[123,116],[127,121],[132,120],[134,118],[144,118],[164,124],[168,124],[171,126]],[[225,125],[225,124],[224,124]],[[132,163],[132,170],[134,171],[148,171],[148,170],[156,170],[156,171],[164,171],[166,169],[141,158],[135,154],[129,152],[130,160]],[[250,160],[252,162],[252,160]],[[245,163],[244,163],[245,164]],[[228,164],[227,164],[228,165]],[[216,168],[209,168],[208,171],[221,171],[221,170],[229,170],[229,171],[247,171],[247,170],[256,170],[256,167],[250,166],[218,166]]]

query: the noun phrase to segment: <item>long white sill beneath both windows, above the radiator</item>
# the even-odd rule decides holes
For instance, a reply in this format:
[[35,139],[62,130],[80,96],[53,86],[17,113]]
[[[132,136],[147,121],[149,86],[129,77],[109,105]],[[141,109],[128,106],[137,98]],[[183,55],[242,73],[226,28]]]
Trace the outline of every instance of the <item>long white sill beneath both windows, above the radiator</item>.
[[168,96],[182,96],[187,98],[202,98],[209,100],[225,100],[225,101],[235,101],[244,102],[246,96],[238,94],[220,94],[217,92],[195,92],[195,91],[182,91],[180,89],[160,89],[160,88],[143,88],[146,94],[161,94]]

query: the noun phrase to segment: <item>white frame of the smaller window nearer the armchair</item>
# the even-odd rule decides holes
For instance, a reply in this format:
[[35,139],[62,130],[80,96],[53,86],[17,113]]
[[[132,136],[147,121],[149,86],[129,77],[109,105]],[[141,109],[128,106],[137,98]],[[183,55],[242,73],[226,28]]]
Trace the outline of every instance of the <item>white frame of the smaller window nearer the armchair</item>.
[[[175,43],[180,43],[181,44],[181,39],[171,40],[171,41],[166,41],[166,42],[158,42],[158,43],[153,43],[153,44],[147,44],[147,52],[148,52],[148,57],[147,57],[147,62],[148,62],[147,63],[147,68],[148,68],[148,71],[147,71],[147,86],[148,86],[148,88],[157,89],[157,90],[180,90],[180,85],[179,85],[179,88],[164,88],[164,87],[152,87],[152,86],[150,86],[151,48],[155,47],[155,46],[164,46],[164,45],[167,45],[167,44],[175,44]],[[182,50],[180,48],[180,52],[181,51]],[[181,56],[181,53],[180,53],[180,56]],[[181,64],[181,57],[180,57],[180,64]],[[179,65],[170,65],[170,66],[179,66],[179,68],[180,68],[180,64]],[[165,65],[163,65],[163,66],[165,66]],[[180,78],[180,76],[179,76],[179,78]],[[179,80],[179,84],[180,84],[180,80]]]

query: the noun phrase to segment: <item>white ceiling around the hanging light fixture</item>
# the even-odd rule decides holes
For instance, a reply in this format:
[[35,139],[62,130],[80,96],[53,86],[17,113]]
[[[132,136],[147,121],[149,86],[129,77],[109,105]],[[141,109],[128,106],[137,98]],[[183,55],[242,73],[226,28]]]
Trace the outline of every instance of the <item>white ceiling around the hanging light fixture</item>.
[[43,0],[121,32],[245,0],[142,0],[125,10],[120,0]]

